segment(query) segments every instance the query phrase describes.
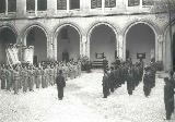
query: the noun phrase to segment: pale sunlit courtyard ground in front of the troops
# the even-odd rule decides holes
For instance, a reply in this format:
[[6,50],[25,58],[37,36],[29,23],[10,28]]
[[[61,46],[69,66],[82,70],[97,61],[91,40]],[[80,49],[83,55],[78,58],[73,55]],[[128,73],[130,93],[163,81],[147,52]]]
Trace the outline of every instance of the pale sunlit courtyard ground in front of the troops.
[[56,86],[19,95],[0,90],[0,122],[175,122],[175,114],[164,120],[163,78],[156,77],[149,98],[140,83],[132,96],[122,85],[104,99],[102,76],[93,71],[67,81],[63,100]]

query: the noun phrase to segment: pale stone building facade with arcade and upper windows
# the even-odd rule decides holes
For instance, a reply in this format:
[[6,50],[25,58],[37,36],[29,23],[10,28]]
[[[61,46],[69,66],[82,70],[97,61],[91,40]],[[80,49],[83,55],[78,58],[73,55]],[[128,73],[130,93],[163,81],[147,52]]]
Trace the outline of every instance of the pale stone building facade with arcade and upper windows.
[[[35,59],[62,60],[62,53],[96,60],[104,53],[109,63],[137,53],[172,62],[167,13],[152,13],[151,0],[1,0],[0,62],[5,46],[34,46]],[[172,17],[173,20],[173,17]],[[175,39],[175,24],[172,24]]]

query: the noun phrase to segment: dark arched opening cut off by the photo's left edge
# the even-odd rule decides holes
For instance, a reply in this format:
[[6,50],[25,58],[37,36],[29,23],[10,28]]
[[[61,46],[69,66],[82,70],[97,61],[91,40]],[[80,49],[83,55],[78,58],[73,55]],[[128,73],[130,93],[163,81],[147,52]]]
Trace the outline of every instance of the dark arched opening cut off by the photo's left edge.
[[5,63],[5,49],[9,44],[16,42],[16,34],[9,27],[0,29],[0,63]]

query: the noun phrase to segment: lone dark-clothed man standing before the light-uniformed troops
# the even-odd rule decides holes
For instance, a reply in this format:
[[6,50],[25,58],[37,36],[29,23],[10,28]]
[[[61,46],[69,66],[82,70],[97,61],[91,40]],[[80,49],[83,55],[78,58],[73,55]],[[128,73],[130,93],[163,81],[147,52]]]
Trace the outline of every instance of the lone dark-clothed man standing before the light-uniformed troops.
[[59,75],[56,78],[58,99],[62,100],[63,98],[63,87],[66,86],[65,77],[62,76],[62,71],[59,71]]

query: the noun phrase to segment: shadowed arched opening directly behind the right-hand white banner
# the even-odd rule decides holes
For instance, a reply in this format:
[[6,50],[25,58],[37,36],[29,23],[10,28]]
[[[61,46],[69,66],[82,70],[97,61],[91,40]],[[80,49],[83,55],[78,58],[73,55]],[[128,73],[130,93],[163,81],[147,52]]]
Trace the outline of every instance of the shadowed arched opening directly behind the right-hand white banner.
[[47,60],[47,36],[37,26],[33,26],[26,35],[26,46],[34,46],[34,63]]

